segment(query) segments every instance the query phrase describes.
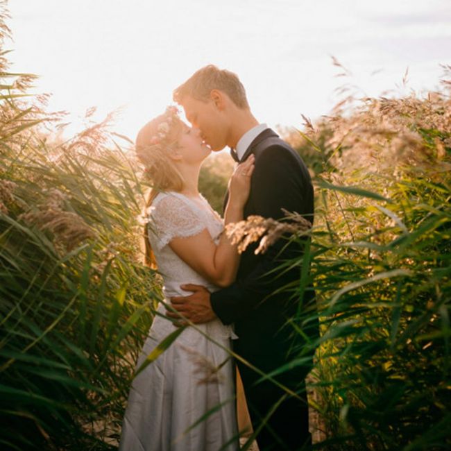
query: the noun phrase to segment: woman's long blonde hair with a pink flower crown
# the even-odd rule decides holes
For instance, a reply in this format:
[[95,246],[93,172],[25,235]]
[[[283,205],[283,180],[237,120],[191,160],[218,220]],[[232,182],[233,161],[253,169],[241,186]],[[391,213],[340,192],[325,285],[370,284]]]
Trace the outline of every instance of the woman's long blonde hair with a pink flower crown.
[[[171,118],[169,123],[168,119]],[[159,137],[159,126],[169,124],[163,138]],[[169,153],[177,148],[178,139],[184,124],[176,114],[165,112],[149,121],[139,130],[135,141],[137,158],[144,164],[144,176],[151,185],[145,196],[142,216],[147,218],[148,207],[152,205],[155,196],[165,191],[182,191],[185,180],[178,171],[176,164],[169,157]],[[158,139],[157,139],[158,138]],[[158,141],[158,142],[155,142]],[[157,269],[157,262],[151,244],[148,240],[148,222],[145,221],[142,235],[142,251],[144,264]]]

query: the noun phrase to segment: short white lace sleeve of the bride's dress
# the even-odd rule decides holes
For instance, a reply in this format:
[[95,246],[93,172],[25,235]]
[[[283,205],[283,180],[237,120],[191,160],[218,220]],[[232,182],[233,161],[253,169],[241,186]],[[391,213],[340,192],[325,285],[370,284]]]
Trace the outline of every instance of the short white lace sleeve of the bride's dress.
[[182,199],[176,196],[164,196],[151,207],[149,226],[155,236],[158,250],[176,237],[192,237],[205,229],[205,224]]

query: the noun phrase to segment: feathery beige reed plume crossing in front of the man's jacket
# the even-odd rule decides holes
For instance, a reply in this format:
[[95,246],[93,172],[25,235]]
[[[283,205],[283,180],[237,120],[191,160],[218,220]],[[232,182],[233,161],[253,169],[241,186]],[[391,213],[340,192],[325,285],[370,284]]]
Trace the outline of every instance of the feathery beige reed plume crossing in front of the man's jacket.
[[226,234],[232,239],[232,244],[238,245],[240,254],[258,240],[260,242],[255,249],[255,254],[264,254],[282,235],[290,234],[296,237],[307,235],[312,228],[312,223],[298,213],[291,213],[284,209],[282,211],[290,222],[282,223],[255,214],[248,216],[248,219],[244,221],[228,224]]

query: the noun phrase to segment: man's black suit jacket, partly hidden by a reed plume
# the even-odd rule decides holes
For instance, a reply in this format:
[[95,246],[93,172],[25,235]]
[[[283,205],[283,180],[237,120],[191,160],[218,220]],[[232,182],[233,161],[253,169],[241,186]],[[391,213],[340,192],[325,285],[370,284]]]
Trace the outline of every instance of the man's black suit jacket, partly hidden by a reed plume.
[[[284,208],[302,214],[313,223],[312,181],[298,153],[271,129],[254,139],[241,161],[251,153],[255,155],[255,169],[244,217],[257,214],[281,219]],[[305,305],[314,299],[312,287],[305,292],[303,300],[287,291],[273,293],[300,278],[298,266],[283,275],[280,271],[267,274],[282,260],[302,255],[298,244],[286,245],[287,240],[279,239],[263,255],[255,255],[257,244],[249,246],[241,255],[236,282],[211,295],[215,314],[224,324],[235,323],[239,337],[235,351],[262,369],[278,366],[287,359],[287,350],[294,344],[290,337],[301,337],[293,334],[293,327],[286,325],[287,320],[296,315],[300,302]],[[316,337],[316,323],[306,332],[309,337]]]

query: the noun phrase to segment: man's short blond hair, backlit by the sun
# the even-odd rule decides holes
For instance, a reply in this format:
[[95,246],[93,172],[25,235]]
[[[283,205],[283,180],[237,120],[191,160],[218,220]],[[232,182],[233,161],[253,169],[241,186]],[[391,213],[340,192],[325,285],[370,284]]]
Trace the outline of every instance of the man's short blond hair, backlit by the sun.
[[185,96],[192,96],[196,100],[207,101],[212,90],[226,93],[239,108],[249,108],[246,91],[237,74],[214,65],[202,67],[173,90],[173,99],[183,103]]

